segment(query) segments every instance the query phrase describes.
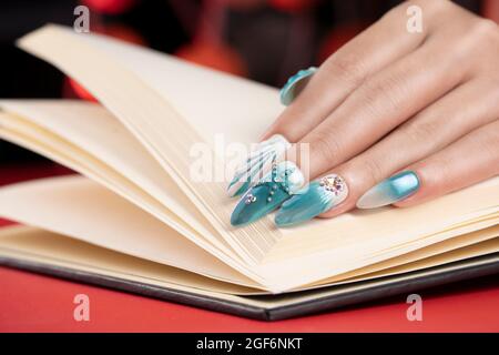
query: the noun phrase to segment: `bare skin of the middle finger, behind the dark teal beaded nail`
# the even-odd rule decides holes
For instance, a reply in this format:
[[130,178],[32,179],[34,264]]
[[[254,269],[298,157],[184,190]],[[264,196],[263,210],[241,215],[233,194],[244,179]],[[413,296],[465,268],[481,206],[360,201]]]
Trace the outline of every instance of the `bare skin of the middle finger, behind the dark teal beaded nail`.
[[310,176],[359,154],[466,77],[459,62],[431,42],[368,79],[301,142],[310,145]]

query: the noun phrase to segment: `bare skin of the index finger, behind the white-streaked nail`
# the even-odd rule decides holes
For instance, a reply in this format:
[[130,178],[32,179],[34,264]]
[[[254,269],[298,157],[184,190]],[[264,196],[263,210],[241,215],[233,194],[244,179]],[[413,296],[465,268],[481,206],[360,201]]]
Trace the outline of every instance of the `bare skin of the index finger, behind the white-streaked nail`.
[[406,8],[407,4],[394,8],[324,62],[262,140],[283,134],[291,142],[297,142],[366,78],[418,48],[427,36],[427,29],[416,36],[408,33],[405,30]]

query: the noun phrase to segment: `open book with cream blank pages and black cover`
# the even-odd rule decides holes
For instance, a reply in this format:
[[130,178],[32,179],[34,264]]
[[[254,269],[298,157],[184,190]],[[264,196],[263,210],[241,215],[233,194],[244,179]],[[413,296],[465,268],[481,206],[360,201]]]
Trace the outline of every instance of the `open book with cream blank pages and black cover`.
[[18,45],[101,104],[1,100],[0,138],[81,175],[0,189],[0,263],[276,320],[499,271],[499,178],[410,209],[234,227],[193,146],[249,144],[278,92],[96,34],[47,26]]

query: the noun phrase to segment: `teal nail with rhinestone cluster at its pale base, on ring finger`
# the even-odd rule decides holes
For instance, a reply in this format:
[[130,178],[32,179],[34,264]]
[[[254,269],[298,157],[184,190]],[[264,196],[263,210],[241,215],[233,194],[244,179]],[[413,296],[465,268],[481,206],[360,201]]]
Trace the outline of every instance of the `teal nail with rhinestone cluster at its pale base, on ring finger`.
[[275,216],[278,226],[312,220],[342,203],[348,195],[345,180],[336,174],[313,181],[281,206]]

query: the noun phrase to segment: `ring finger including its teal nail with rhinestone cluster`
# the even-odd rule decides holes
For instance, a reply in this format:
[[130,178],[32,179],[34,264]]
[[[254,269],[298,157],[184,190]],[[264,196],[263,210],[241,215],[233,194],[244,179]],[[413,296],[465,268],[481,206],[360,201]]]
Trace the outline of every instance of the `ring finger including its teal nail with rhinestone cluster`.
[[[485,98],[483,92],[487,93]],[[498,99],[491,83],[477,80],[460,85],[379,143],[330,171],[326,176],[332,179],[314,181],[304,190],[305,193],[285,202],[277,214],[277,224],[295,224],[319,214],[332,217],[355,207],[359,197],[378,182],[496,120],[499,115]],[[471,110],[464,109],[459,104],[462,102],[480,104],[472,105]],[[399,181],[415,186],[418,183],[411,175]],[[333,191],[325,190],[324,184],[333,186]],[[366,201],[359,203],[363,206]]]

